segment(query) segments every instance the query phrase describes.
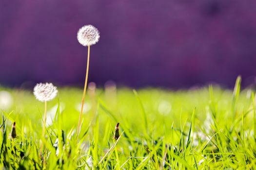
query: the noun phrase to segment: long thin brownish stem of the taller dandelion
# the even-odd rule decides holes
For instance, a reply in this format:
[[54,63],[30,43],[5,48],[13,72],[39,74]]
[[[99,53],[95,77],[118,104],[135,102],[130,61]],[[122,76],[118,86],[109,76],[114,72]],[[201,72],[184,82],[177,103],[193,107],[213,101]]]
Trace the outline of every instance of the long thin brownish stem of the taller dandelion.
[[80,133],[80,125],[81,125],[81,119],[82,119],[84,97],[85,97],[86,87],[87,87],[87,81],[88,81],[89,60],[90,60],[90,45],[88,44],[88,56],[87,56],[86,76],[85,76],[85,82],[84,82],[84,88],[83,88],[83,98],[82,98],[82,103],[81,103],[81,110],[80,110],[79,121],[78,121],[77,137],[79,136],[79,133]]

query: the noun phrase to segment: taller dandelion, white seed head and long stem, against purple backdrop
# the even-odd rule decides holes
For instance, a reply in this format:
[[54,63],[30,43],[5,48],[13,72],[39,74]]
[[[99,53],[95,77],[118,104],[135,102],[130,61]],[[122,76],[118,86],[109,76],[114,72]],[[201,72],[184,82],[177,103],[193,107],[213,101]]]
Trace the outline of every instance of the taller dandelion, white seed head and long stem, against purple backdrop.
[[85,83],[83,89],[83,97],[81,103],[81,110],[79,114],[79,121],[78,121],[78,130],[77,130],[77,137],[79,136],[80,125],[81,125],[81,117],[83,112],[83,103],[84,97],[86,93],[87,81],[88,81],[88,71],[89,71],[89,60],[90,60],[90,46],[96,44],[99,40],[99,32],[98,29],[92,25],[85,25],[81,27],[78,31],[78,42],[83,46],[88,46],[88,55],[87,55],[87,67],[86,67],[86,76],[85,76]]

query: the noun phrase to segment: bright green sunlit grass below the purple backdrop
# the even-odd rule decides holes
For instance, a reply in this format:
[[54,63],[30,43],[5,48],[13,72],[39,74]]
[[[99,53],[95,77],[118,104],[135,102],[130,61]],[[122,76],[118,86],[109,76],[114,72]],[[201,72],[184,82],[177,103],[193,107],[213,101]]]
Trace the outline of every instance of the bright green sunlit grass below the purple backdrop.
[[[240,91],[239,84],[238,78],[234,91],[217,86],[178,91],[89,87],[78,139],[81,89],[59,88],[58,97],[48,102],[43,138],[43,102],[32,91],[0,87],[13,97],[0,120],[0,167],[255,169],[254,93]],[[14,121],[16,136],[11,137]],[[115,139],[118,122],[120,137]]]

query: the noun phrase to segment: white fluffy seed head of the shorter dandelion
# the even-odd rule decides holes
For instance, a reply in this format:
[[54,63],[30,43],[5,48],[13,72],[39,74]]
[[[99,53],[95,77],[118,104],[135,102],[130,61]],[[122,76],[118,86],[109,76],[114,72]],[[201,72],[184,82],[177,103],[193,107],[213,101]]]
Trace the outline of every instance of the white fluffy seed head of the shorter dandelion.
[[53,100],[57,93],[57,87],[52,83],[39,83],[34,87],[34,95],[41,102]]

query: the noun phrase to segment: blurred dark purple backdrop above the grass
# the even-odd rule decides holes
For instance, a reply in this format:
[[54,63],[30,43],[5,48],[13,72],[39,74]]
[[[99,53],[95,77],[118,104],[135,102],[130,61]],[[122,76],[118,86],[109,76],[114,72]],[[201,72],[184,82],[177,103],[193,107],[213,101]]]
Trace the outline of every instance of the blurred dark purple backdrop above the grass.
[[255,0],[1,0],[0,85],[82,87],[87,24],[100,31],[89,70],[99,86],[256,82]]

